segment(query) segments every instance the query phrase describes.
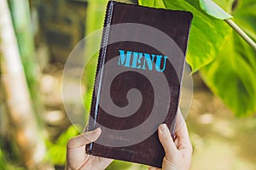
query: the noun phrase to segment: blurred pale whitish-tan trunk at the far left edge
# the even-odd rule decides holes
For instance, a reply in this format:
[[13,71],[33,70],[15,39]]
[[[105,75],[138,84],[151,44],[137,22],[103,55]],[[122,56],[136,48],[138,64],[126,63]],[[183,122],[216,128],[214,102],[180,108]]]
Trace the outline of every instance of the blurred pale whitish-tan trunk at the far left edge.
[[34,168],[45,154],[45,145],[34,112],[20,61],[7,0],[0,0],[0,42],[3,56],[3,88],[9,109],[9,118],[15,131],[20,159],[28,168]]

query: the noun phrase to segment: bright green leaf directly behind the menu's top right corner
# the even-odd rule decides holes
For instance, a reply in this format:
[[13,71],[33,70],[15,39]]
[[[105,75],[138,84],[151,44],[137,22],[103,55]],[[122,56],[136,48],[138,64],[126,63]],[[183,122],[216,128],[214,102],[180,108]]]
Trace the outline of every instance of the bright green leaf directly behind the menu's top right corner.
[[[139,0],[144,6],[153,7],[152,1]],[[218,52],[224,47],[230,37],[231,28],[224,20],[218,20],[206,14],[195,0],[159,0],[156,8],[185,10],[193,14],[189,35],[187,62],[192,71],[198,71],[218,57]],[[162,2],[164,7],[160,4]]]

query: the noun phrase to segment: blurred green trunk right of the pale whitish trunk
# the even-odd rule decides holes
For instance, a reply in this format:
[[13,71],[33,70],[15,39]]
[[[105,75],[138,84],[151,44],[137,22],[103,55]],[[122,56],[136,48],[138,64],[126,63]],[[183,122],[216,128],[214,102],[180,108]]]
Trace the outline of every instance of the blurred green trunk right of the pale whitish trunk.
[[29,2],[28,0],[8,0],[8,2],[20,51],[20,59],[24,67],[26,82],[33,101],[32,106],[37,113],[38,123],[43,125],[39,113],[42,113],[45,109],[39,93],[38,80],[40,79],[40,71],[36,59]]

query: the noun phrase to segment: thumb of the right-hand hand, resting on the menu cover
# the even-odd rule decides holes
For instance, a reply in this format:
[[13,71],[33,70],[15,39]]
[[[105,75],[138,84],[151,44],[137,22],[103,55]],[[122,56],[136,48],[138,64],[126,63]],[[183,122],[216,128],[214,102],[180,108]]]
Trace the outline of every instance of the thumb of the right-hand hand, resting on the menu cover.
[[177,148],[172,141],[171,133],[166,124],[161,124],[158,129],[160,143],[163,145],[166,156],[172,156],[177,153]]

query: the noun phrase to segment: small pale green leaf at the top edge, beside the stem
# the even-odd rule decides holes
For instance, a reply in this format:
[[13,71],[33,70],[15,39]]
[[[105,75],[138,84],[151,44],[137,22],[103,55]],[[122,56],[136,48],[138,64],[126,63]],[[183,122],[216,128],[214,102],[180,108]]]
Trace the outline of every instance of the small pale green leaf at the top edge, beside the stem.
[[210,14],[216,19],[225,20],[232,18],[229,13],[225,12],[224,9],[218,7],[218,5],[212,2],[212,0],[199,0],[199,3],[201,9],[203,9],[207,14]]

